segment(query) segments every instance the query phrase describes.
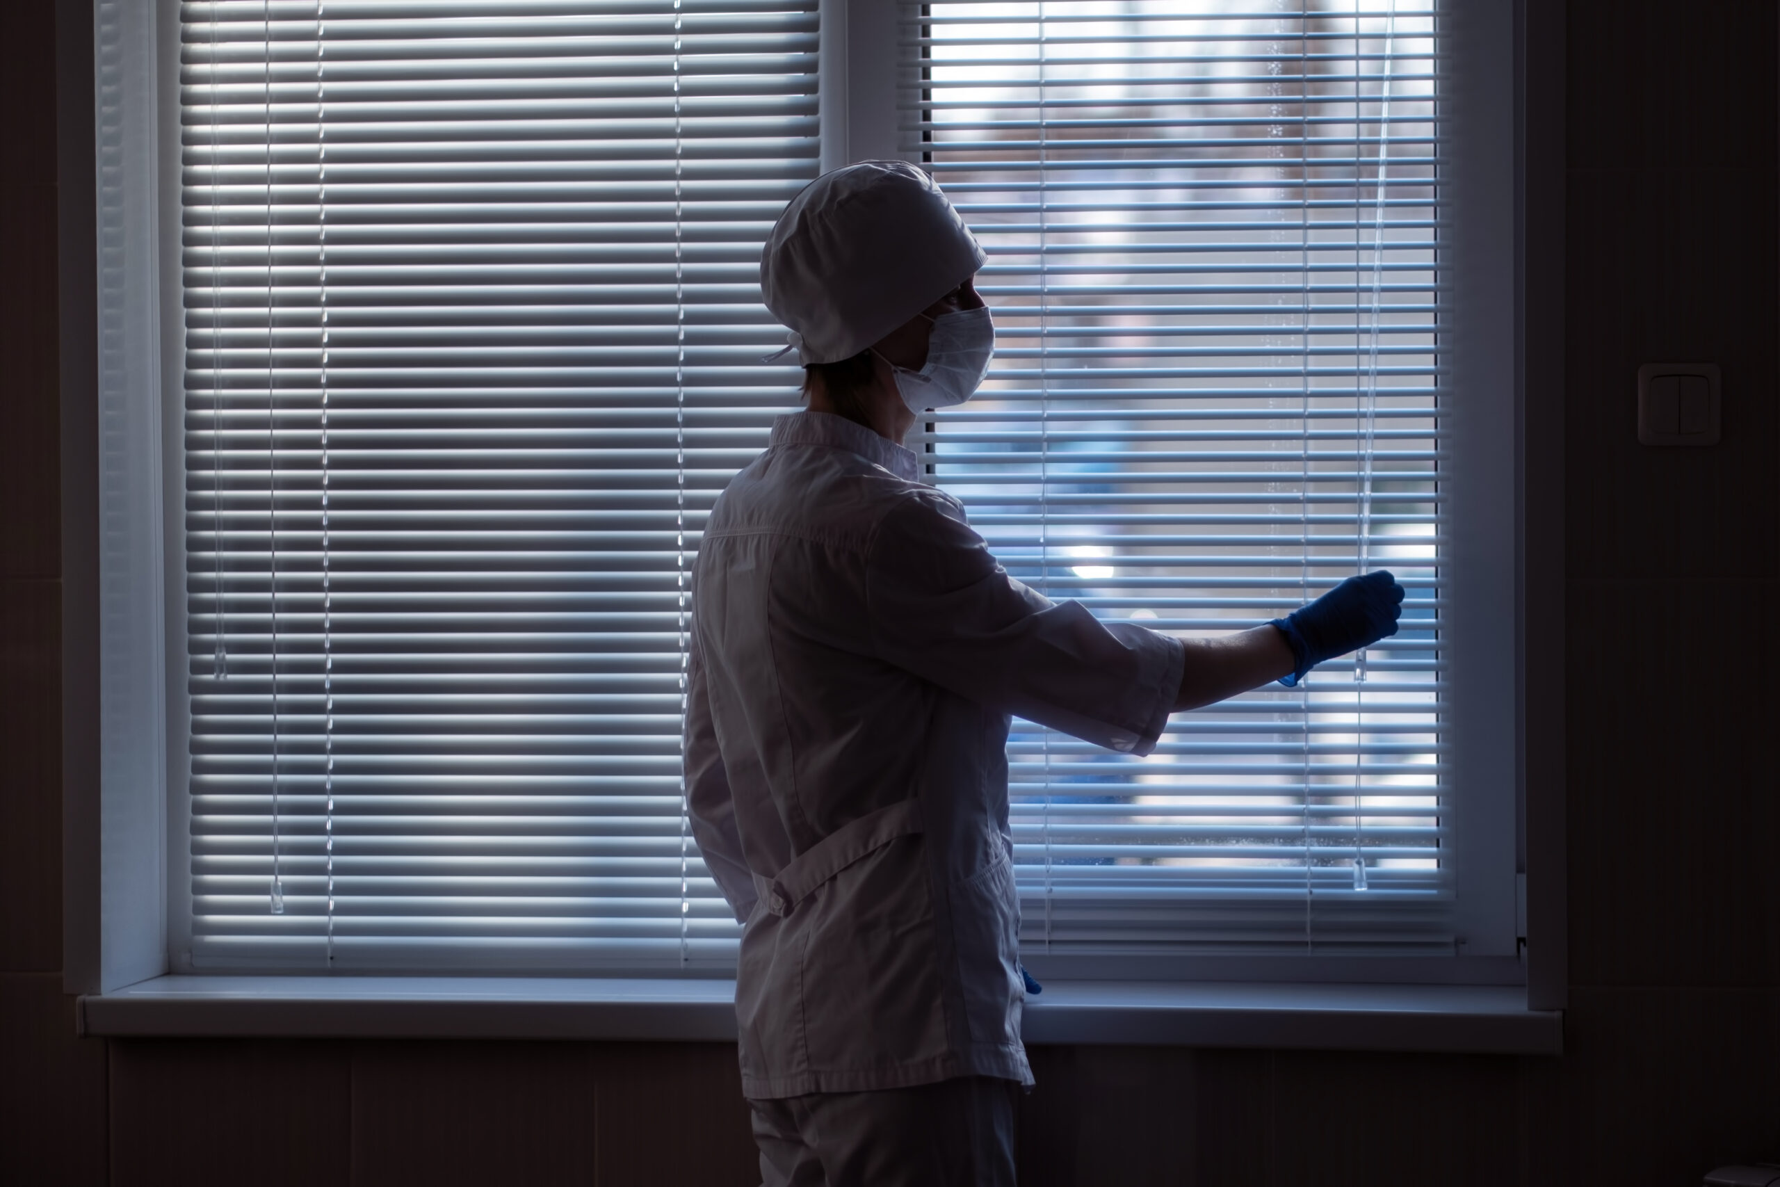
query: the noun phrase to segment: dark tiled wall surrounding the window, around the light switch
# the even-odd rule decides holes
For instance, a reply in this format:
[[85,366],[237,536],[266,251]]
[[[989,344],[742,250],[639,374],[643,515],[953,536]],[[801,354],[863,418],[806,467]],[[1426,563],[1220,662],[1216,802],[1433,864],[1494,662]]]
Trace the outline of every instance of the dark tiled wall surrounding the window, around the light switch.
[[[1566,1054],[1038,1048],[1025,1183],[1780,1160],[1776,36],[1771,2],[1568,0]],[[52,43],[50,0],[0,5],[0,1180],[756,1182],[728,1046],[75,1039]],[[1638,445],[1645,361],[1723,368],[1719,447]]]

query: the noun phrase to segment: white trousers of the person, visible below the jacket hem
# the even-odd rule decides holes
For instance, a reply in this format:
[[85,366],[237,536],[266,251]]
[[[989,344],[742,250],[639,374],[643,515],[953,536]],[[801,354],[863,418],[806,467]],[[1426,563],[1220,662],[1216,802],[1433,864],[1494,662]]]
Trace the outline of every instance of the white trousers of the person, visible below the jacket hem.
[[749,1100],[762,1187],[1015,1187],[1018,1093],[965,1077]]

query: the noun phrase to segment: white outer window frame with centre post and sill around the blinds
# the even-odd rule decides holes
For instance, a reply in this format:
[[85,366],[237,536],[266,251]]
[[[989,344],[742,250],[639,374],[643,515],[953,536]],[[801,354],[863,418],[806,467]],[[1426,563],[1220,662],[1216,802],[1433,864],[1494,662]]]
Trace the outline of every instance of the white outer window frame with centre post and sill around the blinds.
[[[1513,260],[1509,272],[1513,290],[1513,390],[1517,393],[1513,420],[1513,523],[1509,552],[1515,559],[1515,625],[1517,641],[1515,667],[1515,787],[1517,801],[1524,804],[1517,822],[1517,868],[1520,881],[1527,870],[1538,870],[1529,883],[1533,899],[1515,893],[1515,913],[1524,920],[1520,933],[1522,952],[1493,957],[1456,957],[1442,961],[1445,968],[1438,977],[1426,977],[1426,961],[1408,957],[1404,961],[1385,959],[1328,959],[1328,957],[1182,957],[1150,959],[1143,966],[1130,961],[1096,961],[1098,986],[1056,986],[1050,1002],[1038,1002],[1031,1009],[1038,1021],[1038,1034],[1029,1025],[1029,1038],[1043,1041],[1137,1041],[1141,1034],[1152,1034],[1150,1041],[1207,1043],[1219,1041],[1219,1034],[1242,1036],[1244,1045],[1269,1045],[1267,1038],[1276,1036],[1285,1046],[1369,1046],[1392,1048],[1406,1046],[1415,1050],[1556,1050],[1561,1045],[1561,1018],[1552,1013],[1561,1009],[1565,998],[1563,972],[1563,747],[1561,747],[1561,712],[1547,715],[1552,698],[1561,707],[1561,646],[1549,650],[1556,639],[1561,644],[1561,580],[1559,593],[1554,589],[1552,573],[1561,578],[1561,525],[1554,525],[1552,509],[1561,509],[1561,319],[1545,322],[1534,315],[1552,317],[1561,310],[1561,121],[1552,130],[1549,112],[1552,105],[1561,109],[1561,12],[1540,12],[1527,16],[1518,4],[1509,0],[1460,0],[1474,7],[1490,5],[1497,9],[1497,21],[1511,21],[1509,57],[1513,59],[1513,103],[1515,119],[1511,126],[1515,158],[1513,185]],[[146,100],[135,117],[146,121],[146,149],[141,157],[155,151],[160,142],[162,162],[150,160],[150,180],[146,185],[137,176],[142,198],[150,203],[150,226],[153,242],[146,246],[146,276],[137,281],[148,283],[148,292],[155,294],[148,311],[137,310],[139,317],[148,317],[155,324],[153,342],[162,342],[164,327],[178,327],[178,310],[182,301],[178,272],[173,267],[160,267],[158,262],[176,260],[180,247],[178,228],[178,171],[157,167],[164,164],[167,151],[178,146],[178,89],[155,84],[155,66],[167,61],[167,53],[178,52],[178,0],[151,0],[148,5],[125,5],[134,11],[134,20],[144,21],[148,36],[125,39],[125,48],[135,57],[135,73],[125,71],[126,87],[137,89],[137,98]],[[91,1020],[94,1032],[109,1034],[148,1034],[148,1032],[206,1032],[206,1034],[420,1034],[424,1027],[440,1025],[450,1034],[518,1034],[529,1032],[518,1021],[502,1023],[500,1002],[509,1007],[514,1002],[534,1004],[550,1013],[573,1016],[557,1027],[561,1034],[582,1034],[600,1038],[611,1032],[612,1038],[723,1038],[710,1032],[710,1023],[700,1009],[680,1009],[676,998],[682,993],[666,988],[650,991],[650,982],[641,979],[616,977],[571,977],[552,979],[546,986],[532,984],[534,979],[511,977],[452,977],[452,979],[400,979],[408,991],[390,989],[377,997],[370,981],[390,979],[354,979],[361,981],[367,993],[360,995],[358,1005],[344,1013],[335,1009],[329,1014],[326,1002],[340,1000],[336,989],[322,988],[340,977],[329,979],[324,973],[315,977],[228,977],[226,988],[206,986],[215,977],[182,977],[176,952],[182,934],[189,936],[190,899],[189,879],[176,876],[189,863],[189,844],[185,797],[171,794],[173,788],[185,787],[187,749],[183,715],[185,673],[182,667],[164,662],[160,648],[151,667],[158,667],[158,705],[137,698],[137,708],[151,715],[166,717],[166,744],[160,755],[134,755],[132,762],[146,760],[148,767],[139,771],[141,778],[128,779],[128,787],[114,787],[116,778],[101,774],[101,758],[107,744],[101,714],[93,707],[107,696],[101,680],[101,623],[100,596],[103,585],[103,566],[100,562],[100,527],[103,507],[98,505],[101,489],[100,473],[100,431],[107,409],[101,404],[100,375],[94,375],[94,347],[98,343],[98,313],[103,294],[98,292],[94,238],[98,228],[98,210],[94,206],[94,182],[98,171],[84,173],[80,162],[71,160],[75,153],[93,153],[93,141],[87,139],[87,126],[78,117],[78,107],[69,96],[82,91],[94,96],[94,128],[101,116],[101,91],[94,77],[100,61],[96,36],[100,28],[94,20],[98,5],[82,0],[59,0],[59,30],[71,37],[94,37],[93,55],[62,52],[59,61],[59,96],[62,98],[61,137],[62,144],[62,484],[64,484],[64,925],[69,957],[68,988],[73,993],[94,995],[84,1005],[82,1018]],[[847,160],[869,157],[894,157],[895,153],[895,62],[885,61],[881,53],[883,25],[890,23],[895,32],[899,5],[881,0],[822,0],[821,53],[822,71],[819,78],[821,126],[822,126],[822,167],[835,167]],[[1538,27],[1538,57],[1525,50],[1529,28]],[[1556,39],[1552,36],[1556,34]],[[75,43],[78,44],[78,41]],[[1556,46],[1556,50],[1552,48]],[[872,50],[879,50],[872,53]],[[128,57],[128,55],[126,55]],[[829,68],[829,62],[840,68]],[[146,66],[144,66],[146,62]],[[146,78],[144,78],[146,75]],[[1499,78],[1501,82],[1501,78]],[[146,94],[141,91],[146,87]],[[878,101],[870,96],[878,94]],[[888,100],[885,101],[885,96]],[[1540,121],[1529,121],[1529,105],[1538,105],[1547,112]],[[171,135],[169,135],[171,133]],[[888,137],[888,139],[886,139]],[[166,146],[171,142],[173,149]],[[1556,144],[1556,153],[1554,153]],[[94,157],[85,162],[98,166]],[[1529,185],[1529,178],[1538,178],[1540,185]],[[1556,176],[1558,185],[1552,183]],[[82,192],[84,187],[84,192]],[[1556,199],[1552,194],[1556,192]],[[82,233],[87,235],[82,244]],[[1533,267],[1531,244],[1538,244],[1541,253],[1540,267]],[[1558,247],[1554,253],[1552,247]],[[1556,306],[1556,310],[1554,310]],[[171,317],[169,317],[171,315]],[[1534,331],[1534,326],[1541,329]],[[1554,329],[1556,326],[1556,329]],[[173,333],[173,331],[167,331]],[[85,358],[82,359],[82,352]],[[157,383],[148,383],[139,402],[148,400],[146,411],[155,413],[160,427],[160,448],[144,450],[153,464],[148,488],[158,498],[150,505],[135,507],[134,514],[144,527],[153,525],[158,548],[151,548],[153,564],[150,573],[132,573],[135,589],[148,598],[148,605],[158,612],[162,635],[166,639],[182,637],[183,616],[183,472],[182,457],[182,402],[158,400],[157,388],[178,392],[182,368],[176,351],[153,351],[153,361],[142,372]],[[1536,386],[1545,399],[1527,400],[1527,388]],[[1556,409],[1556,411],[1554,411]],[[144,408],[137,408],[137,413]],[[1554,445],[1556,441],[1556,445]],[[1538,516],[1529,516],[1527,507],[1540,507]],[[1538,584],[1527,582],[1527,569],[1540,575]],[[1538,644],[1538,646],[1536,646]],[[1556,723],[1556,724],[1554,724]],[[146,815],[144,815],[146,813]],[[130,829],[135,820],[137,828]],[[157,828],[141,828],[144,820]],[[1531,828],[1529,828],[1531,826]],[[1525,829],[1525,838],[1520,831]],[[183,929],[183,931],[182,931]],[[1538,931],[1534,931],[1538,929]],[[1545,938],[1550,938],[1549,941]],[[1538,940],[1527,947],[1527,938]],[[1257,965],[1255,961],[1266,961]],[[1415,970],[1410,963],[1422,965],[1422,981],[1445,984],[1412,984]],[[1294,968],[1296,965],[1296,968]],[[1086,972],[1086,970],[1082,970]],[[171,977],[167,973],[173,973]],[[1068,966],[1050,970],[1050,975],[1077,973]],[[1383,973],[1383,975],[1380,975]],[[616,1007],[612,993],[598,991],[600,984],[623,981],[641,998],[632,993],[625,1007]],[[308,986],[304,982],[310,982]],[[424,984],[425,982],[425,984]],[[481,982],[481,984],[479,984]],[[580,998],[568,995],[573,1002],[564,1004],[561,984],[584,982],[593,986]],[[1120,982],[1150,982],[1150,997],[1120,997]],[[1209,982],[1228,982],[1223,997],[1205,997]],[[1251,982],[1271,982],[1251,984]],[[1363,989],[1371,997],[1347,998],[1347,1014],[1367,1018],[1367,1025],[1353,1027],[1331,1023],[1328,1030],[1331,1041],[1324,1043],[1314,1032],[1303,1029],[1303,1020],[1344,1018],[1339,995],[1323,993],[1333,982],[1347,982],[1347,989]],[[657,982],[660,986],[687,982]],[[716,982],[723,984],[723,982]],[[530,988],[527,988],[530,986]],[[1177,991],[1169,997],[1169,986]],[[1296,986],[1296,989],[1294,989]],[[707,984],[707,989],[712,986]],[[1493,988],[1495,998],[1465,998],[1463,991],[1481,991]],[[1287,991],[1290,989],[1290,991]],[[530,997],[527,997],[530,993]],[[651,997],[653,993],[653,997]],[[1155,995],[1161,997],[1155,997]],[[1194,998],[1194,993],[1200,997]],[[1282,997],[1283,993],[1283,997]],[[429,997],[433,995],[433,997]],[[438,995],[452,1002],[452,1009],[440,1011],[417,1002],[436,1002]],[[1458,995],[1458,997],[1454,997]],[[217,1002],[233,1002],[233,1007]],[[1194,1004],[1198,1000],[1198,1004]],[[1246,1002],[1246,1005],[1244,1005]],[[1485,1002],[1485,1005],[1479,1005]],[[246,1014],[242,1011],[244,1004]],[[1518,1005],[1517,1005],[1518,1004]],[[484,1009],[486,1005],[486,1009]],[[705,1004],[708,1007],[708,1002]],[[1052,1011],[1050,1007],[1056,1007]],[[352,1011],[358,1011],[356,1014]],[[233,1013],[231,1013],[233,1011]],[[393,1011],[393,1013],[392,1013]],[[456,1013],[452,1013],[456,1011]],[[627,1013],[628,1011],[628,1013]],[[639,1013],[641,1011],[641,1013]],[[1146,1013],[1148,1011],[1148,1013]],[[1185,1011],[1185,1013],[1180,1013]],[[1495,1013],[1492,1013],[1495,1011]],[[507,1014],[513,1011],[509,1009]],[[523,1013],[523,1011],[520,1011]],[[708,1014],[708,1009],[705,1011]],[[475,1021],[477,1016],[482,1021]],[[335,1021],[317,1021],[333,1016]],[[352,1018],[358,1021],[352,1021]],[[459,1018],[447,1021],[445,1018]],[[705,1018],[703,1021],[692,1021]],[[1234,1030],[1209,1029],[1212,1018],[1246,1018],[1253,1025],[1239,1025]],[[1499,1016],[1508,1020],[1501,1036],[1476,1038],[1476,1020],[1479,1016]],[[244,1021],[246,1018],[246,1021]],[[344,1018],[344,1021],[342,1021]],[[402,1021],[431,1018],[431,1021]],[[468,1018],[465,1021],[463,1018]],[[580,1021],[573,1021],[578,1018]],[[639,1021],[639,1018],[643,1021]],[[680,1018],[682,1021],[675,1021]],[[1130,1030],[1136,1020],[1161,1020],[1161,1030]],[[1169,1023],[1168,1020],[1175,1020]],[[1182,1025],[1178,1020],[1193,1020]],[[1298,1020],[1290,1025],[1269,1023],[1267,1020]],[[1406,1021],[1392,1023],[1390,1018]],[[1419,1023],[1413,1020],[1420,1020]],[[1429,1018],[1447,1020],[1442,1025],[1428,1027]],[[605,1020],[593,1021],[587,1020]],[[1098,1021],[1096,1021],[1098,1020]],[[1118,1023],[1114,1020],[1123,1020]],[[1468,1020],[1468,1021],[1467,1021]],[[684,1023],[684,1025],[682,1025]],[[166,1027],[173,1027],[171,1030]],[[247,1029],[240,1029],[246,1025]],[[322,1030],[315,1030],[322,1025]],[[363,1029],[363,1027],[372,1029]],[[417,1030],[415,1027],[422,1027]],[[1378,1030],[1383,1025],[1385,1030]],[[160,1027],[157,1030],[157,1027]],[[328,1029],[333,1027],[333,1029]],[[589,1029],[591,1027],[591,1029]],[[1371,1029],[1369,1029],[1371,1027]],[[1392,1027],[1406,1027],[1392,1030]],[[1420,1029],[1417,1029],[1420,1027]],[[1488,1027],[1483,1027],[1488,1030]],[[431,1032],[431,1030],[425,1030]],[[1392,1038],[1401,1034],[1401,1041]],[[1470,1039],[1463,1036],[1470,1034]],[[1102,1038],[1095,1038],[1102,1036]],[[1121,1038],[1125,1036],[1125,1038]],[[1169,1038],[1175,1036],[1175,1038]],[[1344,1038],[1346,1036],[1346,1038]],[[541,1038],[541,1036],[539,1036]]]

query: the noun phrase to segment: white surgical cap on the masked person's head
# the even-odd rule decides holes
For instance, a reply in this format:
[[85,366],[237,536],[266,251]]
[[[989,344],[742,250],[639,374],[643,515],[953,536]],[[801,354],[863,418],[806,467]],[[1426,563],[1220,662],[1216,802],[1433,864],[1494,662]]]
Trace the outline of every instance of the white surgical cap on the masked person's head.
[[760,292],[805,363],[837,363],[975,276],[983,247],[906,160],[863,160],[803,187],[767,237]]

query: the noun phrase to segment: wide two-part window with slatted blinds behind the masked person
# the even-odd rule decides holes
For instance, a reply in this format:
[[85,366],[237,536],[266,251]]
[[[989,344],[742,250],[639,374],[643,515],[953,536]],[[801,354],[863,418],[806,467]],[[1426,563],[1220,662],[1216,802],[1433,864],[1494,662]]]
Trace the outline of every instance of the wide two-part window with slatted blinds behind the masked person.
[[1148,760],[1016,728],[1029,963],[1518,977],[1501,5],[942,0],[819,87],[863,7],[178,5],[174,970],[733,968],[684,577],[796,408],[758,249],[840,78],[990,253],[917,447],[1016,577],[1182,632],[1412,591],[1363,682]]

